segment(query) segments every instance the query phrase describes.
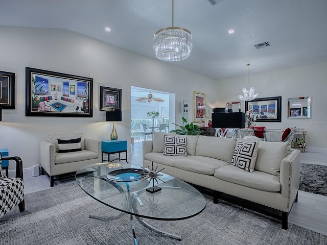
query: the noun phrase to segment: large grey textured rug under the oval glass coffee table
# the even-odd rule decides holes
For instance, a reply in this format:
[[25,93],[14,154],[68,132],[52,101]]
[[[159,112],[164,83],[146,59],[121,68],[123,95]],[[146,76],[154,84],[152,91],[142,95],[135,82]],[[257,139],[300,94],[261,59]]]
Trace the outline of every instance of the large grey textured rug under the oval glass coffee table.
[[[327,244],[327,236],[281,222],[225,201],[207,206],[199,215],[177,221],[147,220],[182,240],[158,235],[135,222],[138,244]],[[0,219],[0,244],[133,244],[129,216],[103,221],[89,214],[116,215],[88,197],[76,184],[59,185],[26,195],[26,210],[18,207]]]

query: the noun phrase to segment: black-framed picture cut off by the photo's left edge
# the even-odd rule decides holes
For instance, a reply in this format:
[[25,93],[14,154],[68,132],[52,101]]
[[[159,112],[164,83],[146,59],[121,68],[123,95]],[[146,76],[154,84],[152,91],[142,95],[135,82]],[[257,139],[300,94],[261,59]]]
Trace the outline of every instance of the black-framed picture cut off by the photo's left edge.
[[0,71],[0,106],[15,109],[15,74]]

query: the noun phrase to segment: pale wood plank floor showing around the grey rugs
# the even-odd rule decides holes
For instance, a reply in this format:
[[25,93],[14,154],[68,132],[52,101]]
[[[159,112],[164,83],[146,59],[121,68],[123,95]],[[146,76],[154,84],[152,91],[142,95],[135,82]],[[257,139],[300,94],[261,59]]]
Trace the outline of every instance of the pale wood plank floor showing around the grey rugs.
[[[327,154],[305,152],[301,153],[301,162],[327,165]],[[129,163],[142,166],[142,142],[135,142],[131,148],[131,159]],[[65,185],[74,182],[74,178],[55,182]],[[25,174],[25,193],[31,193],[50,188],[48,176],[32,177]],[[327,183],[326,183],[327,184]],[[299,191],[298,202],[294,203],[289,214],[289,223],[327,235],[327,197],[309,192]]]

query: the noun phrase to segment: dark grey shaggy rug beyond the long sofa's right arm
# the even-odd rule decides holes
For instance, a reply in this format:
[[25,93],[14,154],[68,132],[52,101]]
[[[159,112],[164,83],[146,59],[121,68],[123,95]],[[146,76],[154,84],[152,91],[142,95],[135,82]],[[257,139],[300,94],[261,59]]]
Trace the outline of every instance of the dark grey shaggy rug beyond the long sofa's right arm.
[[301,163],[299,190],[327,196],[327,166]]

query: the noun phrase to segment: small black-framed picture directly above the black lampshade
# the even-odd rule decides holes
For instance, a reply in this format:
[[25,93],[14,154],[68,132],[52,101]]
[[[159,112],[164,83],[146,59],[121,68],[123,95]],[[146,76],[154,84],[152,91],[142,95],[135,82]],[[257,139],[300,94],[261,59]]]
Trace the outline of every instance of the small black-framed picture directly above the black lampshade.
[[113,109],[122,109],[122,90],[100,86],[100,110],[111,111]]

